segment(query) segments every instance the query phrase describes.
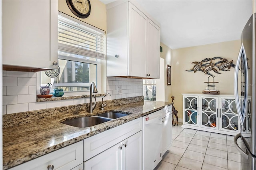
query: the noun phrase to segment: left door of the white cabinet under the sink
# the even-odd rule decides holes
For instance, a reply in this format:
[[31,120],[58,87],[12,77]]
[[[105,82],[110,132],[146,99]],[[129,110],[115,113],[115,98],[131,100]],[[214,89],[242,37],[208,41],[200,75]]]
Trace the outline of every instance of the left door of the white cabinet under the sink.
[[120,170],[122,143],[112,146],[84,162],[85,170]]

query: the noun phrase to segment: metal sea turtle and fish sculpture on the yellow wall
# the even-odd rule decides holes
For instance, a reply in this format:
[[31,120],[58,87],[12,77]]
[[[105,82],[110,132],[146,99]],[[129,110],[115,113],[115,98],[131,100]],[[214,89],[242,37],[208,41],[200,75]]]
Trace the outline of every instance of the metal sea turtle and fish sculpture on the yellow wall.
[[[214,63],[214,61],[216,62]],[[211,73],[209,73],[210,71],[214,71],[214,73],[220,74],[218,71],[230,71],[229,69],[231,67],[236,67],[236,65],[233,64],[233,60],[228,61],[227,59],[222,57],[206,58],[200,62],[194,61],[192,62],[192,64],[195,64],[194,67],[186,71],[194,71],[194,73],[196,71],[202,71],[204,72],[204,74],[210,76],[214,76]]]

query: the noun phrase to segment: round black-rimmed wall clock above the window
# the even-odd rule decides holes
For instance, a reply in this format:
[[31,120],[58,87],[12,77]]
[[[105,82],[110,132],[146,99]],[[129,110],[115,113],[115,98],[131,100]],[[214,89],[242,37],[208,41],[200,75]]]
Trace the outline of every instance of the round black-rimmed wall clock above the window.
[[91,12],[89,0],[66,0],[69,9],[79,18],[87,18]]

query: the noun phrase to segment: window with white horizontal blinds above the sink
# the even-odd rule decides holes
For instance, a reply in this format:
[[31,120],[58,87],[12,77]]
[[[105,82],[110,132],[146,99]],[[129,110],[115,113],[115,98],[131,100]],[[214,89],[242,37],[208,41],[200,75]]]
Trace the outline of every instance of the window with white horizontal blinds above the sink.
[[100,87],[100,59],[105,59],[105,47],[104,31],[59,12],[60,74],[50,78],[43,71],[41,84],[52,83],[53,88],[61,87],[66,92],[89,91],[92,81]]

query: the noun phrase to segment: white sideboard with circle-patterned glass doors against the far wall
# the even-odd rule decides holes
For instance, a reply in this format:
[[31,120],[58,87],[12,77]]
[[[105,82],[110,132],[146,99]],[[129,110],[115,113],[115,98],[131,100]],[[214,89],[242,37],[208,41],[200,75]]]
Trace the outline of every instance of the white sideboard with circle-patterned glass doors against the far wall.
[[[233,95],[182,94],[183,95],[183,125],[209,132],[236,135],[241,131],[240,121]],[[250,99],[248,99],[250,108]],[[248,109],[246,121],[249,120]],[[248,122],[248,121],[247,121]],[[246,123],[243,131],[248,133]]]

